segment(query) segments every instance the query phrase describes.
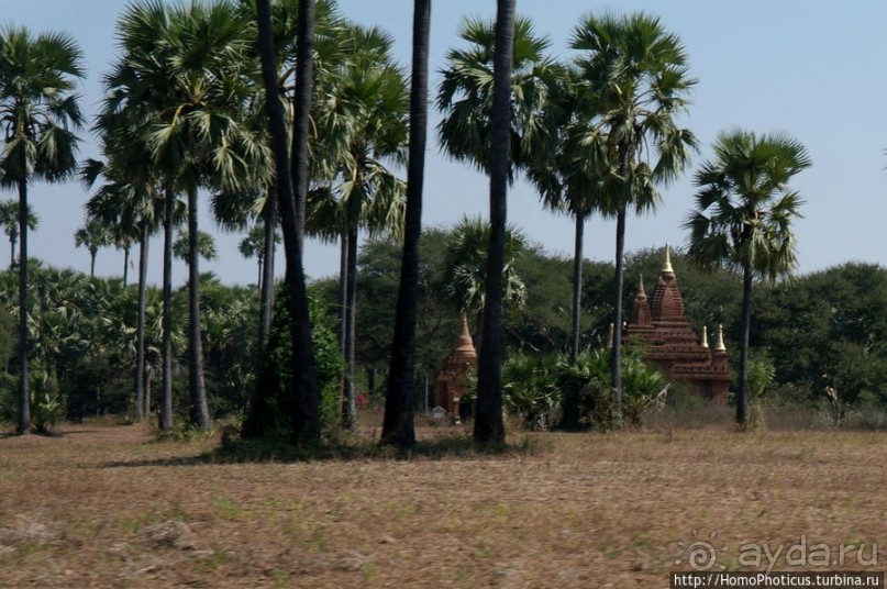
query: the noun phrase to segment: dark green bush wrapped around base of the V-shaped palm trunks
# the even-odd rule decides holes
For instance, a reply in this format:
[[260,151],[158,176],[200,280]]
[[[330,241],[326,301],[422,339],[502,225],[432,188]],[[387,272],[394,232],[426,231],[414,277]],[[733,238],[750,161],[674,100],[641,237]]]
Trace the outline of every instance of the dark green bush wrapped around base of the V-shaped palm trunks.
[[[243,424],[243,436],[247,438],[292,437],[295,398],[289,388],[292,380],[292,338],[287,297],[286,288],[277,289],[268,346],[257,363],[253,402]],[[323,431],[329,433],[339,423],[339,379],[344,362],[335,331],[314,289],[309,289],[309,304],[314,366],[321,390],[321,421]]]

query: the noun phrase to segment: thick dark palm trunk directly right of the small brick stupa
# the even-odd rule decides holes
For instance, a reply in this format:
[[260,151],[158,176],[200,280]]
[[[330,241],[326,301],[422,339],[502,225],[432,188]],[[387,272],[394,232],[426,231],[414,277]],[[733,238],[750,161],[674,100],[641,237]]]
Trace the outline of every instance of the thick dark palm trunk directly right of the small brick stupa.
[[474,436],[481,443],[503,443],[502,423],[502,269],[507,222],[511,66],[514,54],[515,0],[498,0],[490,113],[490,241],[487,296],[477,371],[477,414]]

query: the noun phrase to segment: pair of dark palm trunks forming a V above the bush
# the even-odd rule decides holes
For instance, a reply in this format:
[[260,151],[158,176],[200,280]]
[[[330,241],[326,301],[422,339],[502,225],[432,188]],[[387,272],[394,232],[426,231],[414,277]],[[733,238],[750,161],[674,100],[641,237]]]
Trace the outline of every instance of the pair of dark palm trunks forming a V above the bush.
[[277,84],[277,65],[268,0],[257,0],[256,9],[262,79],[268,107],[268,129],[275,155],[278,205],[287,262],[286,277],[292,335],[292,387],[296,397],[292,430],[297,442],[310,444],[320,440],[320,399],[311,342],[308,290],[302,266],[304,203],[308,195],[308,115],[311,107],[314,2],[313,0],[299,0],[292,170],[289,165],[287,127]]

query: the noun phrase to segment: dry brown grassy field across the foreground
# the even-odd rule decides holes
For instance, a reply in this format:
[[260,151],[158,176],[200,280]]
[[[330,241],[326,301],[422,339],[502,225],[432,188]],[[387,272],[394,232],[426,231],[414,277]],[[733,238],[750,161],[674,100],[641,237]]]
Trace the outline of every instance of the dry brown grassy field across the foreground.
[[62,433],[0,437],[2,588],[667,587],[699,547],[713,570],[766,568],[750,545],[795,546],[783,570],[887,558],[884,433],[518,433],[502,455],[240,464],[143,426]]

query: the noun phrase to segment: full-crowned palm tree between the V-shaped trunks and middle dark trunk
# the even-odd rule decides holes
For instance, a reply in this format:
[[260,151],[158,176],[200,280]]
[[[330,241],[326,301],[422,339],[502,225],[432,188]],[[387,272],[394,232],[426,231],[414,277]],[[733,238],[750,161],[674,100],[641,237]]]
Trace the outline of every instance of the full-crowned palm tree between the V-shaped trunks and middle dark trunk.
[[393,65],[393,40],[378,29],[351,25],[346,43],[351,59],[323,89],[317,115],[323,137],[315,154],[329,162],[329,180],[312,191],[309,223],[342,246],[342,335],[347,365],[343,423],[355,424],[355,321],[357,297],[357,240],[362,227],[370,234],[402,227],[406,186],[385,165],[400,163],[409,135],[403,73]]

